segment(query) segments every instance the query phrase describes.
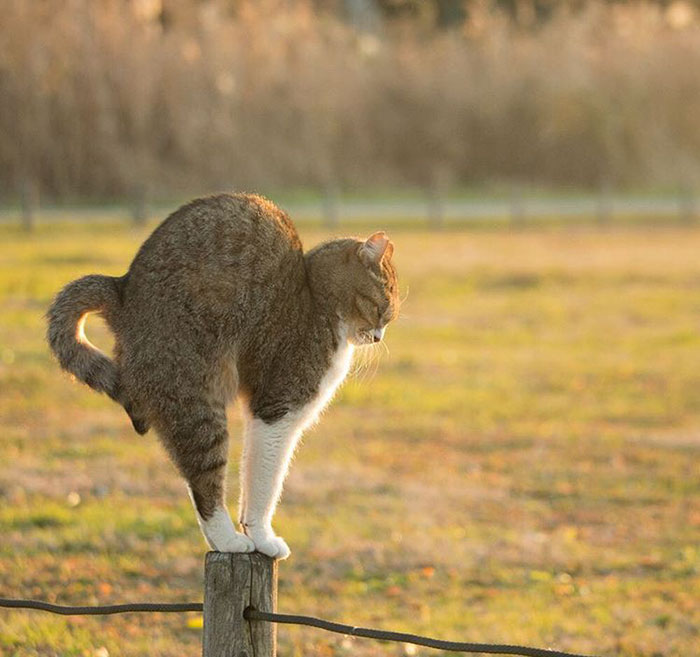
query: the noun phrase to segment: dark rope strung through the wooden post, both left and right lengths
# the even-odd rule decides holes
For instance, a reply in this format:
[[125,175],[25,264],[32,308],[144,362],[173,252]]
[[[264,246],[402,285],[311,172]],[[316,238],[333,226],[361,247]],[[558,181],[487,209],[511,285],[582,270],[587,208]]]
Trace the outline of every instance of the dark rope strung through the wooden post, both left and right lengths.
[[[17,600],[12,598],[0,598],[0,607],[10,609],[39,609],[52,614],[63,616],[106,616],[109,614],[127,614],[132,612],[183,612],[204,610],[201,602],[132,602],[122,605],[96,605],[91,607],[71,607],[67,605],[55,605],[40,600]],[[511,646],[498,643],[462,643],[458,641],[443,641],[418,634],[406,634],[404,632],[391,632],[387,630],[375,630],[368,627],[355,627],[334,623],[313,616],[299,616],[294,614],[276,614],[267,611],[258,611],[248,607],[243,612],[247,621],[266,621],[269,623],[282,623],[286,625],[308,625],[328,632],[346,634],[350,636],[364,637],[366,639],[378,639],[380,641],[399,641],[401,643],[413,643],[417,646],[449,650],[452,652],[488,653],[492,655],[522,655],[523,657],[590,657],[577,655],[559,650],[545,650],[543,648],[528,648],[527,646]]]

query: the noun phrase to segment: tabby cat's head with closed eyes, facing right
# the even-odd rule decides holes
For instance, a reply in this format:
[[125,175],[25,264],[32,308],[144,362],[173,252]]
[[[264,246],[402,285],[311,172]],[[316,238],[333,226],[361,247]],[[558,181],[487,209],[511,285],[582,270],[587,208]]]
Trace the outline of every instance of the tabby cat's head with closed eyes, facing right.
[[351,252],[352,288],[344,319],[349,342],[362,346],[380,342],[386,325],[399,312],[398,281],[391,262],[394,245],[380,231],[356,241]]

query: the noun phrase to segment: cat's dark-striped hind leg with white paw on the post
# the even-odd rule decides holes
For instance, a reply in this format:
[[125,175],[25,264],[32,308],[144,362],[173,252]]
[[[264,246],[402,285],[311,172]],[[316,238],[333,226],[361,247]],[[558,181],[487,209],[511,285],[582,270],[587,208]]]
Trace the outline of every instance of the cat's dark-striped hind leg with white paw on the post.
[[[193,406],[197,406],[193,408]],[[159,431],[187,481],[199,526],[212,550],[252,552],[253,541],[237,532],[226,508],[228,430],[223,406],[188,405]]]

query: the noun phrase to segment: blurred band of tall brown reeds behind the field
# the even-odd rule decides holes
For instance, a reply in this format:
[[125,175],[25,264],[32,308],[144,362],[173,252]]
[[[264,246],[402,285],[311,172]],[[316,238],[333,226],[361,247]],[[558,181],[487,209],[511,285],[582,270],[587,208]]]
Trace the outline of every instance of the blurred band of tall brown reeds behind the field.
[[700,3],[3,0],[0,193],[693,187]]

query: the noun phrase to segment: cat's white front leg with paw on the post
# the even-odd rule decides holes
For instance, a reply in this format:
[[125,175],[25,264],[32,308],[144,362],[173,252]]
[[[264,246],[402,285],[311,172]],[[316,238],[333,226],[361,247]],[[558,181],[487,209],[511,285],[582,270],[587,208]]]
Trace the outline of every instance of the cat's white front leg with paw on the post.
[[289,461],[299,440],[298,419],[289,414],[275,422],[249,417],[241,463],[241,524],[258,552],[286,559],[290,550],[272,529]]

